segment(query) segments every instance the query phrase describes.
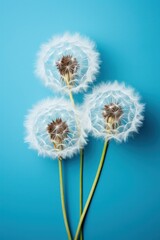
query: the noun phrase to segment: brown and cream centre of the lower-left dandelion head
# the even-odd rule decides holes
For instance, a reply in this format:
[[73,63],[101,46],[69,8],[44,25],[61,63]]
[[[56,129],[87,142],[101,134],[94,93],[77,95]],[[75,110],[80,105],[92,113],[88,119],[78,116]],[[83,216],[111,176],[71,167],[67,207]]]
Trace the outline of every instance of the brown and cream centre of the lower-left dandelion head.
[[56,149],[63,149],[63,141],[67,138],[69,129],[66,122],[63,122],[61,118],[57,118],[47,126],[47,131],[50,134],[50,139]]

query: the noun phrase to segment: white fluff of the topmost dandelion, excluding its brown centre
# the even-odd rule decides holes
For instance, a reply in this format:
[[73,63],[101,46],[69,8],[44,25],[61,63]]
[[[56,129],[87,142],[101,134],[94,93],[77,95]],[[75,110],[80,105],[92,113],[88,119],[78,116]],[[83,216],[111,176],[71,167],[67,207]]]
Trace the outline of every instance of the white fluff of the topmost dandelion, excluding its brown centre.
[[66,33],[53,37],[41,46],[36,63],[36,75],[52,90],[68,92],[68,87],[56,66],[63,56],[72,56],[78,62],[72,91],[86,90],[99,71],[99,53],[95,50],[94,42],[81,37],[78,33],[73,35]]

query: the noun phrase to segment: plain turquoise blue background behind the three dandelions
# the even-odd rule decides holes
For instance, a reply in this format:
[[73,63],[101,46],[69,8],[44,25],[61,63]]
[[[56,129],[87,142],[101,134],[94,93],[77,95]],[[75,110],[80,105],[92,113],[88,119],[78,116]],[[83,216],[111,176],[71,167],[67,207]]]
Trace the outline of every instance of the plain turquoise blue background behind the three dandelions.
[[[85,222],[85,239],[160,239],[160,1],[1,0],[0,239],[64,240],[57,161],[24,144],[23,121],[36,102],[52,96],[34,75],[41,43],[65,31],[97,43],[95,82],[132,85],[146,104],[145,122],[127,143],[111,142]],[[83,95],[75,96],[78,102]],[[85,148],[84,201],[103,143]],[[79,218],[79,157],[64,161],[72,232]]]

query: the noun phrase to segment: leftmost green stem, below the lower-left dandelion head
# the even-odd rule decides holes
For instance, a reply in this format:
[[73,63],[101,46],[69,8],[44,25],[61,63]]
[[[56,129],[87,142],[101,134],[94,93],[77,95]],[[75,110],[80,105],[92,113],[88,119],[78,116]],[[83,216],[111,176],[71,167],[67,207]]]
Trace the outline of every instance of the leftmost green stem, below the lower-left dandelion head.
[[64,199],[64,187],[63,187],[63,175],[62,175],[62,158],[58,158],[58,165],[59,165],[59,181],[60,181],[60,192],[61,192],[61,204],[62,204],[62,212],[63,212],[63,219],[64,224],[66,227],[68,240],[72,240],[71,232],[69,229],[69,224],[67,220],[66,208],[65,208],[65,199]]

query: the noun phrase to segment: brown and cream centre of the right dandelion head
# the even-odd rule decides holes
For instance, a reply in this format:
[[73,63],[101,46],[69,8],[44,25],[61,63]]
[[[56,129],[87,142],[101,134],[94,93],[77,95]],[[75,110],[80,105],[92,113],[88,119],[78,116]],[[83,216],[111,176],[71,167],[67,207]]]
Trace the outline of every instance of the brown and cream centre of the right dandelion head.
[[115,132],[120,124],[120,118],[123,114],[121,106],[110,103],[104,106],[103,117],[106,124],[107,132]]

